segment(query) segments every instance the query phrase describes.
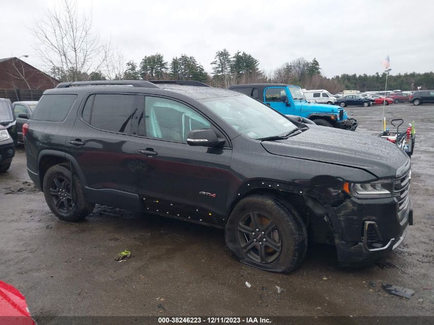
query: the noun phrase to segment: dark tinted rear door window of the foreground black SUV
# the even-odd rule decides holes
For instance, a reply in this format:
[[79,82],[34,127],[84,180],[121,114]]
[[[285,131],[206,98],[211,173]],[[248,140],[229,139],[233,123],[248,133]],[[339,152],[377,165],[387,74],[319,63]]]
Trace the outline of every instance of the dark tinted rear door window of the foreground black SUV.
[[134,95],[96,94],[88,123],[106,131],[130,133],[134,103]]

